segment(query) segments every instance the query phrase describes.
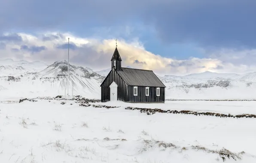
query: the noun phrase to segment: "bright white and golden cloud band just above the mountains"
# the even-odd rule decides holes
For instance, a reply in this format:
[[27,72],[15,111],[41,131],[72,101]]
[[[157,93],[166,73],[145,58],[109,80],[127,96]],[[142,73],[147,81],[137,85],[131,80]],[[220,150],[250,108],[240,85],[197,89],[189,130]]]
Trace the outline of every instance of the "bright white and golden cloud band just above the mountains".
[[[53,63],[56,60],[67,60],[67,38],[70,38],[76,48],[70,48],[70,63],[76,66],[88,66],[92,69],[101,70],[110,68],[110,59],[116,48],[115,39],[94,39],[81,38],[71,33],[61,33],[58,39],[42,39],[46,34],[31,35],[17,33],[21,36],[21,43],[6,43],[5,49],[0,49],[1,59],[11,58],[14,60],[35,61],[40,60],[46,63]],[[53,38],[57,33],[52,32]],[[245,73],[256,71],[256,66],[243,63],[232,63],[228,59],[220,59],[222,55],[218,51],[215,57],[177,60],[168,57],[155,55],[143,47],[138,39],[133,42],[118,38],[118,50],[122,57],[122,66],[131,66],[138,69],[150,69],[159,75],[186,75],[204,71],[212,72],[236,72]],[[62,48],[59,48],[61,45]],[[72,47],[72,46],[71,46]],[[21,50],[19,50],[21,49]],[[252,50],[256,51],[256,50]],[[35,54],[36,52],[36,54]],[[236,54],[248,54],[247,51],[235,51]],[[249,55],[249,54],[248,54]],[[213,55],[212,55],[213,56]],[[251,55],[251,58],[254,56]],[[256,59],[256,57],[254,57]]]

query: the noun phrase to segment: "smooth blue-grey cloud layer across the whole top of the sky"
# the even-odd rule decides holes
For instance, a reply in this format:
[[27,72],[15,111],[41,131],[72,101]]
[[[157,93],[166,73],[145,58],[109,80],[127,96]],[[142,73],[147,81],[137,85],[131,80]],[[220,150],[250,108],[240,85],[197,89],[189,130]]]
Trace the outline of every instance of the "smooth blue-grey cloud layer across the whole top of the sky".
[[8,0],[0,5],[0,31],[17,27],[87,34],[95,27],[108,31],[139,23],[169,44],[256,48],[255,6],[255,0]]

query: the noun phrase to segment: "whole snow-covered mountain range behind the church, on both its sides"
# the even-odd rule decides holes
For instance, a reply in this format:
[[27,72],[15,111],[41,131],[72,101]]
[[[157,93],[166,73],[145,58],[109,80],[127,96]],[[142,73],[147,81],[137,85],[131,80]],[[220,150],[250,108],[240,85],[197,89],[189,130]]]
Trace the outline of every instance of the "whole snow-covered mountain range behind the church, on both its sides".
[[[99,99],[101,82],[109,72],[110,69],[94,72],[88,67],[70,65],[69,94],[73,85],[73,94]],[[166,86],[167,99],[256,98],[256,72],[242,75],[202,72],[184,76],[157,76]],[[6,94],[20,94],[21,97],[64,95],[66,85],[66,60],[56,61],[49,66],[39,61],[0,60],[0,97]]]

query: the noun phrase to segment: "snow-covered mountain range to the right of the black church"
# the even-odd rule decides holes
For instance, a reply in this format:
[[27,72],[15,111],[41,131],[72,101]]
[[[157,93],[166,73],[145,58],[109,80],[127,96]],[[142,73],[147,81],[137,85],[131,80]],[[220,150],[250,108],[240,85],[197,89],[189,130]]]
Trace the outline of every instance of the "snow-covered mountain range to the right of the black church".
[[243,75],[202,72],[159,77],[173,99],[255,99],[256,72]]

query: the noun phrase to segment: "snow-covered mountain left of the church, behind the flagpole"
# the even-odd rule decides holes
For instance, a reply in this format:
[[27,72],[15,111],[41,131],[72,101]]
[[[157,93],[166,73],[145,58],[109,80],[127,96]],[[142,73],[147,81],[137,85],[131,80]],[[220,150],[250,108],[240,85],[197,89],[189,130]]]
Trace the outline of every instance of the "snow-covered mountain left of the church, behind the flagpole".
[[[35,63],[34,63],[35,64]],[[31,65],[31,64],[30,64]],[[35,64],[34,66],[36,66]],[[25,69],[15,71],[16,66],[9,66],[9,71],[0,73],[1,95],[19,94],[26,96],[55,96],[64,95],[67,88],[67,61],[56,61],[43,70]],[[32,70],[28,72],[27,70]],[[104,76],[93,72],[90,68],[70,65],[69,94],[83,94],[90,98],[99,98],[100,84]],[[66,92],[67,94],[67,92]]]

